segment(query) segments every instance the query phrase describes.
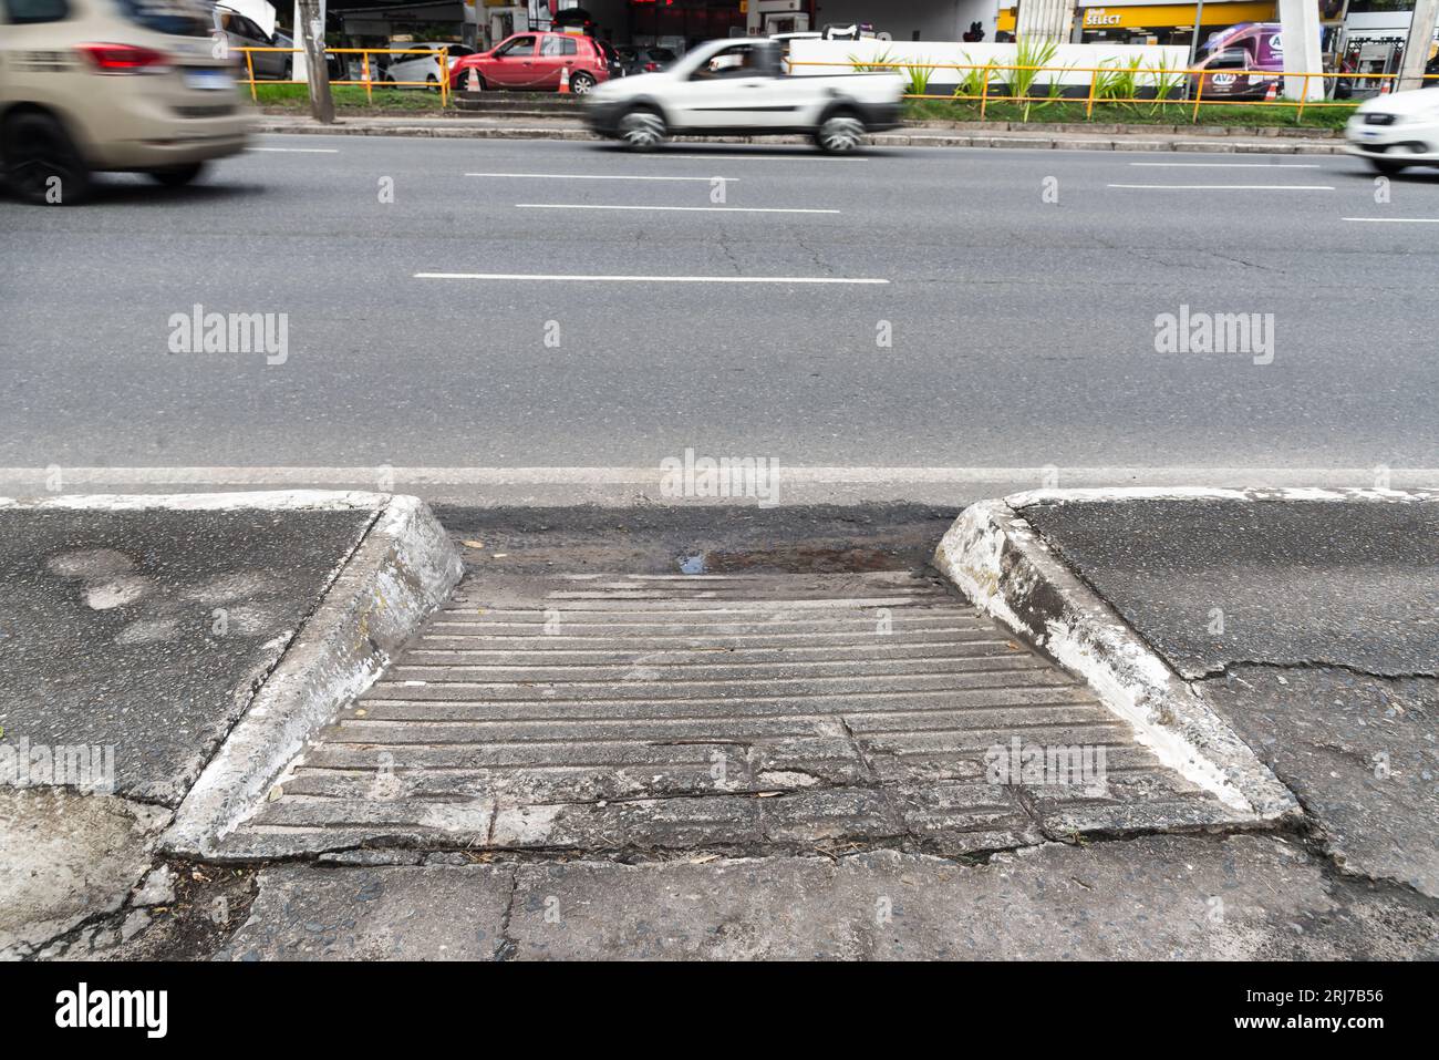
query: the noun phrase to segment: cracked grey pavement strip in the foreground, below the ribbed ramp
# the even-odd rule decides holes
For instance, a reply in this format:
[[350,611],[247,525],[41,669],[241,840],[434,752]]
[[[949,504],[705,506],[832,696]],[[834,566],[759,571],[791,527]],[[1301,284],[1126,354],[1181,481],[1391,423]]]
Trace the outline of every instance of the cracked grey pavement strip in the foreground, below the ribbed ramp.
[[285,866],[219,958],[1426,959],[1413,896],[1279,837],[1046,844],[958,864],[881,850],[636,866]]

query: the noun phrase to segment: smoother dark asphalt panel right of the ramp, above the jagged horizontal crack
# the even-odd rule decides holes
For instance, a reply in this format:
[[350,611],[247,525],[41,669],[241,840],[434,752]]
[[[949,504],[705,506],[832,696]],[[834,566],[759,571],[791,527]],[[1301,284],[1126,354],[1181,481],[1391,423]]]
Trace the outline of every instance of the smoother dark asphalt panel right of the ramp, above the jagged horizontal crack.
[[1010,506],[1193,680],[1238,662],[1439,675],[1436,501],[1289,491]]

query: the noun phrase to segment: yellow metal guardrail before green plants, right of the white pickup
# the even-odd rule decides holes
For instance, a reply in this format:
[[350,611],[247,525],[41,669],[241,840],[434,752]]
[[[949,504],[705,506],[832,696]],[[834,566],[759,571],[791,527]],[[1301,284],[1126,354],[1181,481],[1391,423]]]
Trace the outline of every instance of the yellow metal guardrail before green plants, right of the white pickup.
[[[1219,71],[1210,71],[1210,69],[1203,69],[1203,68],[1193,68],[1193,69],[1184,68],[1184,69],[1180,69],[1180,68],[1167,68],[1167,66],[1032,66],[1032,65],[1003,63],[1003,62],[989,62],[989,63],[925,62],[922,59],[917,59],[917,60],[912,60],[912,62],[888,62],[888,60],[865,62],[863,59],[850,59],[850,60],[846,60],[846,62],[825,62],[825,60],[817,60],[817,59],[807,59],[807,60],[790,59],[790,66],[829,66],[829,68],[848,66],[848,68],[850,68],[853,71],[875,71],[875,72],[886,71],[886,69],[892,69],[892,71],[917,71],[917,69],[922,71],[922,69],[927,69],[927,71],[931,71],[931,72],[932,71],[940,71],[940,69],[944,69],[944,71],[967,71],[971,75],[971,78],[973,78],[974,73],[980,73],[981,72],[984,75],[984,79],[983,79],[983,84],[980,86],[980,92],[977,92],[977,94],[960,91],[960,89],[964,88],[963,81],[970,79],[970,78],[963,78],[963,76],[961,76],[960,89],[957,89],[953,95],[948,95],[948,96],[934,96],[934,95],[928,95],[925,92],[905,92],[904,94],[905,99],[963,99],[963,101],[967,101],[967,102],[979,101],[979,104],[980,104],[980,118],[981,120],[984,118],[986,108],[990,104],[994,104],[994,102],[1026,102],[1026,104],[1078,102],[1078,98],[1055,96],[1055,95],[1029,95],[1027,92],[1025,92],[1022,95],[990,95],[990,91],[989,91],[990,85],[994,84],[996,81],[999,81],[996,78],[996,75],[1000,73],[1000,72],[1004,72],[1004,71],[1012,72],[1012,73],[1017,73],[1017,72],[1029,73],[1030,75],[1029,81],[1027,81],[1029,85],[1033,85],[1033,82],[1039,79],[1038,78],[1039,73],[1059,73],[1059,75],[1065,75],[1065,73],[1091,73],[1091,75],[1094,75],[1094,76],[1089,78],[1089,94],[1085,98],[1085,117],[1092,117],[1094,115],[1094,105],[1097,102],[1098,104],[1151,104],[1151,105],[1153,104],[1164,104],[1164,105],[1179,105],[1179,104],[1183,104],[1186,107],[1189,107],[1189,105],[1194,107],[1194,112],[1190,117],[1191,122],[1199,121],[1199,108],[1200,107],[1298,107],[1298,115],[1295,117],[1295,121],[1301,121],[1304,118],[1304,108],[1305,107],[1357,107],[1358,105],[1357,102],[1350,102],[1350,101],[1345,101],[1345,99],[1331,99],[1331,98],[1328,98],[1330,96],[1328,92],[1325,92],[1325,98],[1324,99],[1312,99],[1312,101],[1307,99],[1305,96],[1309,95],[1311,78],[1321,78],[1321,79],[1328,78],[1331,81],[1360,81],[1360,79],[1370,79],[1370,81],[1387,82],[1387,85],[1381,86],[1381,91],[1390,91],[1399,82],[1399,75],[1397,73],[1344,73],[1344,72],[1317,72],[1317,71],[1315,72],[1307,72],[1307,73],[1304,73],[1304,72],[1301,72],[1301,73],[1286,73],[1284,71],[1252,71],[1252,69],[1235,69],[1235,71],[1219,69]],[[1275,98],[1275,99],[1226,99],[1226,98],[1213,99],[1212,98],[1212,99],[1204,99],[1204,82],[1206,82],[1206,79],[1213,78],[1215,75],[1223,75],[1223,73],[1230,73],[1230,72],[1236,73],[1236,75],[1261,75],[1266,81],[1271,79],[1271,78],[1265,76],[1265,75],[1272,75],[1274,79],[1304,78],[1304,91],[1301,92],[1301,98],[1299,99],[1284,99],[1284,98]],[[1121,84],[1122,85],[1124,82],[1128,82],[1131,85],[1131,89],[1130,89],[1131,94],[1125,95],[1125,96],[1115,96],[1115,95],[1109,95],[1108,89],[1105,89],[1104,94],[1097,95],[1097,92],[1099,91],[1099,86],[1101,86],[1101,76],[1099,75],[1108,75],[1109,78],[1114,78],[1115,84]],[[1141,76],[1147,76],[1151,81],[1150,88],[1154,88],[1156,91],[1164,89],[1166,94],[1156,95],[1156,96],[1137,96],[1137,95],[1132,95],[1134,89],[1140,88],[1140,85],[1135,84],[1135,82]],[[1425,75],[1422,75],[1420,79],[1422,81],[1436,81],[1436,79],[1439,79],[1439,73],[1425,73]],[[1053,81],[1048,81],[1046,84],[1055,84],[1055,82]],[[1167,95],[1167,92],[1180,91],[1186,85],[1194,85],[1194,88],[1196,88],[1194,96],[1191,99],[1170,98]]]

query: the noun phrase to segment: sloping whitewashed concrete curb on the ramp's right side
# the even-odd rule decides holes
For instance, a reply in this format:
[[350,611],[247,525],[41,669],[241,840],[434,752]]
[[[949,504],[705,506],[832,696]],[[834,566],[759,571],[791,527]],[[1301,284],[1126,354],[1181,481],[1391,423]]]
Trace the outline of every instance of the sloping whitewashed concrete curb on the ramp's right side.
[[[1135,493],[1153,497],[1160,491]],[[1131,495],[1122,490],[1104,494]],[[1219,798],[1235,811],[1236,822],[1298,814],[1289,789],[1233,729],[1016,513],[1013,504],[1036,497],[1071,500],[1065,491],[1043,491],[971,504],[940,542],[935,566],[974,606],[1084,678],[1134,729],[1138,743]]]

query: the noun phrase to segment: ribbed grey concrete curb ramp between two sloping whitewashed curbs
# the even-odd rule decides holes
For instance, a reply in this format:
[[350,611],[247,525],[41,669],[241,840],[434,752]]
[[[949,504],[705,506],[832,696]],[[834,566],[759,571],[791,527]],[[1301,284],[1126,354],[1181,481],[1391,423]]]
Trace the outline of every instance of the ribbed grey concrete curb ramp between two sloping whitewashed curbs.
[[927,578],[472,575],[230,844],[970,853],[1223,818]]

